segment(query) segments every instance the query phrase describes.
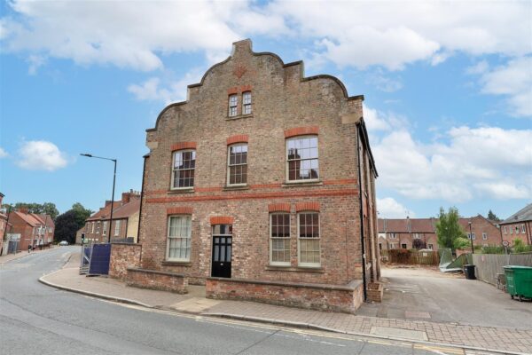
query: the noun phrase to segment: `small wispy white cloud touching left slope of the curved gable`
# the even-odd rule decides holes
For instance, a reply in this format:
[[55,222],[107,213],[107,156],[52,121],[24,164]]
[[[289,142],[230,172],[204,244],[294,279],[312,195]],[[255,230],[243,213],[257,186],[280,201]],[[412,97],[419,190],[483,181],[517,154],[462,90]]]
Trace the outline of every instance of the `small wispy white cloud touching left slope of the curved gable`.
[[161,83],[160,78],[152,77],[141,84],[130,84],[128,91],[135,95],[138,100],[162,101],[165,105],[186,99],[187,86],[192,83],[200,83],[200,68],[194,68],[181,79],[175,82]]

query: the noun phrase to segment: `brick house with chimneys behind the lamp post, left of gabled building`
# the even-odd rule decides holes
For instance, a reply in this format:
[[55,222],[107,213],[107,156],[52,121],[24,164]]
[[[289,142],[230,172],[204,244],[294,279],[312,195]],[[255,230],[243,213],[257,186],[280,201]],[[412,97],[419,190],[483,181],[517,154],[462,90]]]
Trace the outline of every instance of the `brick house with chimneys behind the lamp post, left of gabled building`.
[[[133,242],[137,242],[140,193],[133,190],[129,190],[129,193],[122,193],[121,200],[114,201],[113,206],[111,241],[132,238]],[[88,242],[107,242],[110,218],[111,201],[106,201],[106,206],[87,218],[85,225],[77,231],[76,244],[81,244],[82,233],[85,233],[85,239]]]

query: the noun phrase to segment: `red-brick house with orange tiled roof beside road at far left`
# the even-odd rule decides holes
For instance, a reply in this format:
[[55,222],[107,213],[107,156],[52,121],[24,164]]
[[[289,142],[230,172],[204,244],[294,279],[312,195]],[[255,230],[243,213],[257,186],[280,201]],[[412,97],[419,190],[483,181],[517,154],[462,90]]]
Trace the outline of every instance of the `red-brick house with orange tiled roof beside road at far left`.
[[9,217],[9,233],[19,233],[19,250],[28,246],[46,248],[53,241],[55,224],[49,215],[28,213],[27,209],[13,210]]

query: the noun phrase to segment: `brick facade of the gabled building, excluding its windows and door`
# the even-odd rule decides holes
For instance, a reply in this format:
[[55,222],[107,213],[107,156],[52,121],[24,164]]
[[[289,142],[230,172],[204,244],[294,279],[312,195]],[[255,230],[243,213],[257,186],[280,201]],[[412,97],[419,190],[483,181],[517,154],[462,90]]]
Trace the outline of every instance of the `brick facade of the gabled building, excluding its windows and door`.
[[[362,98],[348,98],[343,84],[332,76],[303,76],[301,63],[284,65],[274,54],[253,53],[244,41],[236,43],[231,59],[210,68],[200,84],[189,87],[186,103],[163,110],[146,138],[150,154],[139,232],[141,267],[179,272],[202,282],[211,274],[210,218],[226,216],[234,221],[233,278],[334,285],[361,278],[356,138]],[[253,113],[228,117],[228,92],[249,90]],[[286,182],[286,134],[317,134],[318,181]],[[227,144],[235,136],[248,144],[247,185],[238,188],[226,185]],[[194,186],[172,190],[172,152],[183,146],[196,149]],[[367,158],[369,152],[363,154]],[[364,167],[369,170],[367,163]],[[373,218],[372,178],[364,176],[371,182],[368,218]],[[301,203],[320,206],[321,264],[314,269],[298,263],[296,206]],[[287,267],[270,266],[271,204],[290,207]],[[190,262],[166,260],[168,211],[173,209],[192,216]],[[376,228],[367,230],[373,260],[375,236]]]

